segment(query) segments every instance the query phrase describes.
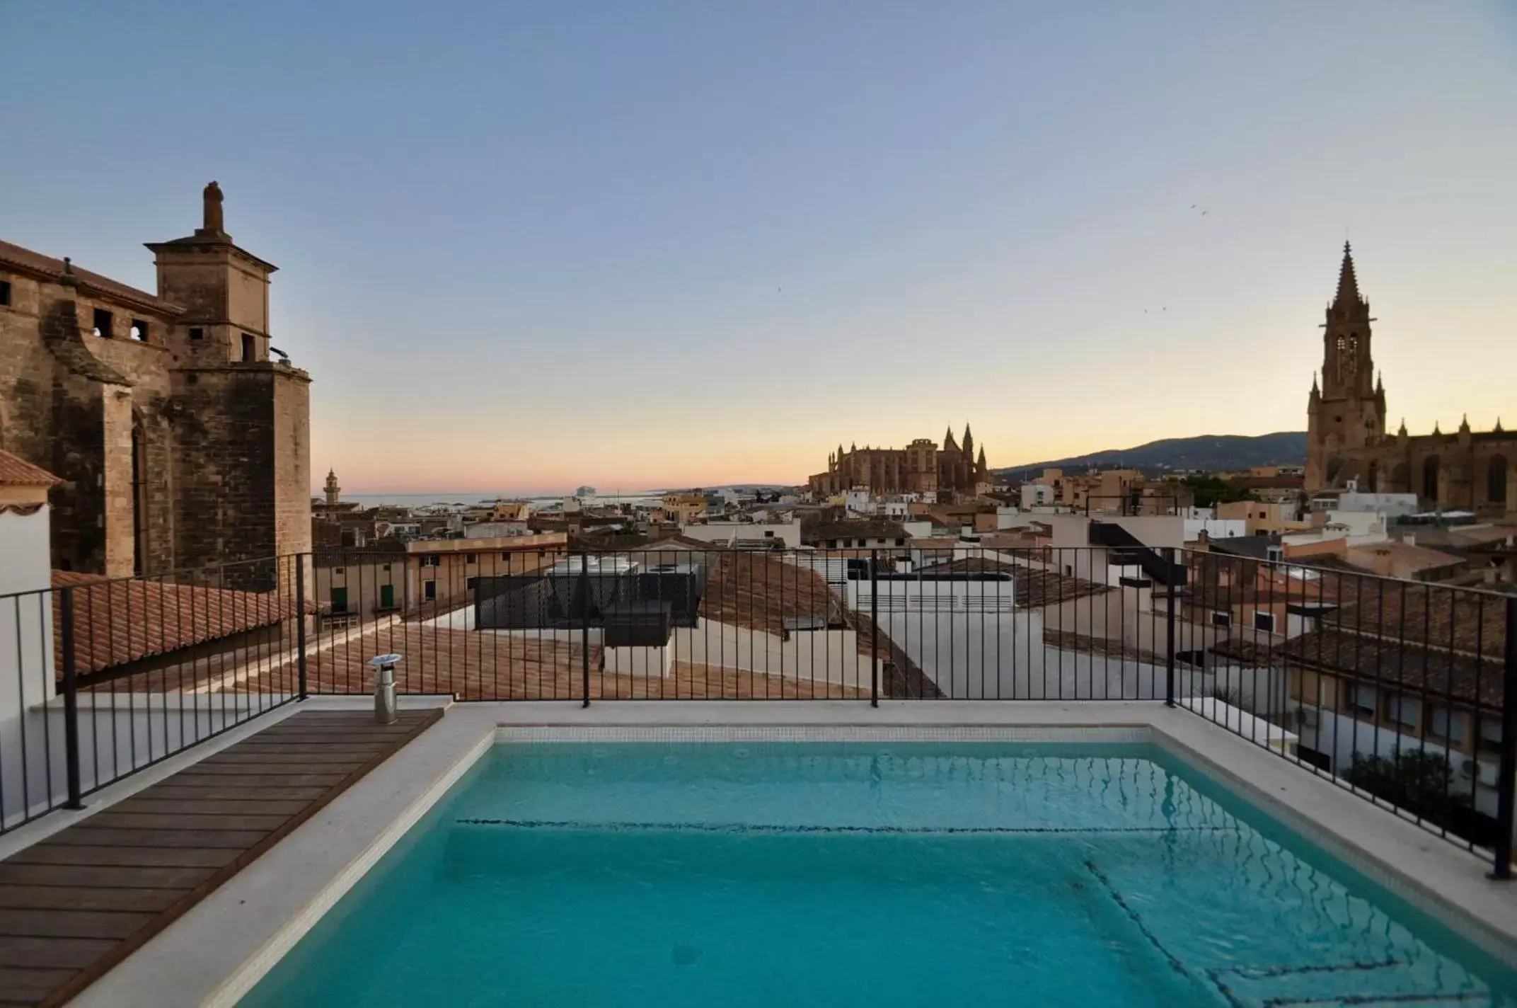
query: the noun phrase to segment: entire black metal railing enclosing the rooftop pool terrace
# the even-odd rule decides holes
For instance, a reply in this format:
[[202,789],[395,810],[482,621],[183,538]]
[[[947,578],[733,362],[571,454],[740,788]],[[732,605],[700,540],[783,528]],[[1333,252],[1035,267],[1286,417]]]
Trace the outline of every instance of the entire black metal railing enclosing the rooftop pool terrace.
[[291,700],[369,694],[393,653],[397,692],[460,701],[1165,703],[1509,874],[1514,597],[1126,539],[458,550],[0,597],[5,827]]

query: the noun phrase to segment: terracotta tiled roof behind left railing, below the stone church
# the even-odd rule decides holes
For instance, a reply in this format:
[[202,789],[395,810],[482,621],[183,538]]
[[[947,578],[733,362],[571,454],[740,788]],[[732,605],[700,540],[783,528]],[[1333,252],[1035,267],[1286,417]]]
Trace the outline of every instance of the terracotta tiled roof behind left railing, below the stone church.
[[[106,580],[53,571],[53,587],[65,586],[74,589],[74,668],[80,676],[267,627],[299,612],[288,592]],[[314,612],[314,606],[306,603],[306,612]],[[56,591],[53,651],[56,671],[62,676],[62,592]]]

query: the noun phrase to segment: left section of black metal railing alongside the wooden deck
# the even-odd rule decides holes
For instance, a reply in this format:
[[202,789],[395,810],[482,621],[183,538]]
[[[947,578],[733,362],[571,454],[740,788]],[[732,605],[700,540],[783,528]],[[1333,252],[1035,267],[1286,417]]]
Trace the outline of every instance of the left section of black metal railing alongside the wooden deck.
[[0,595],[0,832],[299,697],[299,557]]

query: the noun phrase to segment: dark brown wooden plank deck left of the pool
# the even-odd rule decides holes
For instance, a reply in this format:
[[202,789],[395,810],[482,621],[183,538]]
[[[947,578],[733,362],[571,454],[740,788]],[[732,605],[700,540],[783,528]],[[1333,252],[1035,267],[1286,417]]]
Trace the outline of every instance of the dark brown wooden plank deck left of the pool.
[[441,713],[296,713],[0,862],[0,1005],[67,1002]]

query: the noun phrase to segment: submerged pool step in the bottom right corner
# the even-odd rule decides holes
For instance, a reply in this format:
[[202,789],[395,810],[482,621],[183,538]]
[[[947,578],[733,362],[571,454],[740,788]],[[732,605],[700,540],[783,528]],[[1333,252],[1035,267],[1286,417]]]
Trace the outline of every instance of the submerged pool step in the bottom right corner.
[[1488,1005],[1491,991],[1461,970],[1427,962],[1232,967],[1208,970],[1238,1008],[1432,1008]]

